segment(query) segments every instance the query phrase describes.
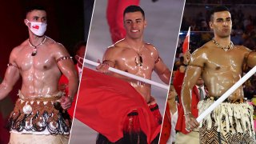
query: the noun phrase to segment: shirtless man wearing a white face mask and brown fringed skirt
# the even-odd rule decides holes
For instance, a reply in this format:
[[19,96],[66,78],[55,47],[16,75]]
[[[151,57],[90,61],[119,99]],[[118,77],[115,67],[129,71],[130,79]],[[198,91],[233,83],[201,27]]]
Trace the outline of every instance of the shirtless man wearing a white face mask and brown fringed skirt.
[[[10,143],[68,143],[70,108],[78,90],[78,75],[65,47],[44,35],[46,10],[30,7],[24,20],[29,38],[10,54],[5,78],[0,85],[0,99],[10,93],[22,77],[22,88],[10,114]],[[69,94],[58,90],[61,74],[69,79]],[[63,110],[64,109],[64,110]]]

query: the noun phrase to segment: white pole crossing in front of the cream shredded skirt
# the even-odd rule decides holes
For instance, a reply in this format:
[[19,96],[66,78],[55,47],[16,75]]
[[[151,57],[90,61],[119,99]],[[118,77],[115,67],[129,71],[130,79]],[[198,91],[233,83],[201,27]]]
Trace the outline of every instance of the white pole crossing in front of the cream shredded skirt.
[[221,104],[226,98],[230,96],[230,94],[234,93],[234,90],[237,90],[239,86],[241,86],[247,79],[249,79],[256,72],[256,66],[251,69],[246,75],[244,75],[238,82],[231,86],[226,93],[222,94],[220,98],[216,102],[214,102],[211,106],[209,106],[201,115],[198,116],[197,121],[201,122],[203,118],[206,117],[207,114],[210,114],[212,110],[214,110],[219,104]]

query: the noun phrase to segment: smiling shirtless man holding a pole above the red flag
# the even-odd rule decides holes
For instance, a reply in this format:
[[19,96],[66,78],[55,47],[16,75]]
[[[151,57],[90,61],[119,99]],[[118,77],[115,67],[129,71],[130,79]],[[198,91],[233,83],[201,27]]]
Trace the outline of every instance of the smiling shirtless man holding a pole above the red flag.
[[[139,6],[128,6],[123,13],[123,17],[126,38],[106,50],[102,65],[98,66],[97,69],[102,73],[109,73],[108,68],[114,67],[147,79],[151,79],[151,74],[154,70],[163,82],[169,84],[170,70],[162,62],[158,50],[153,45],[143,41],[143,32],[146,27],[144,11]],[[154,102],[154,98],[151,97],[151,86],[149,84],[138,82],[119,74],[113,75],[130,82],[130,85],[134,86],[145,98],[149,106],[152,106],[152,108],[150,107],[151,111],[154,109],[153,106],[158,107]],[[159,118],[158,122],[160,124],[162,118]]]

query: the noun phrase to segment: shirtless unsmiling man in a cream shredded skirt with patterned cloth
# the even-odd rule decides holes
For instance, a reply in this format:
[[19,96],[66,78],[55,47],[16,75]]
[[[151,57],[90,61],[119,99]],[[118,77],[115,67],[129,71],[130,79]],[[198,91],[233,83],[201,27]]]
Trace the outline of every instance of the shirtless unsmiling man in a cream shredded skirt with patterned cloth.
[[[210,98],[205,98],[198,103],[199,114],[222,96],[235,82],[238,82],[241,78],[243,62],[250,67],[256,65],[255,52],[244,46],[234,46],[230,41],[232,21],[230,12],[225,6],[215,7],[211,11],[209,25],[214,30],[214,38],[194,51],[182,86],[182,103],[187,130],[194,130],[199,126],[191,114],[190,94],[201,75]],[[255,143],[254,130],[250,123],[252,122],[252,107],[242,101],[243,97],[242,86],[240,86],[202,121],[200,143]],[[240,115],[242,111],[245,114]],[[240,122],[241,117],[246,122]]]

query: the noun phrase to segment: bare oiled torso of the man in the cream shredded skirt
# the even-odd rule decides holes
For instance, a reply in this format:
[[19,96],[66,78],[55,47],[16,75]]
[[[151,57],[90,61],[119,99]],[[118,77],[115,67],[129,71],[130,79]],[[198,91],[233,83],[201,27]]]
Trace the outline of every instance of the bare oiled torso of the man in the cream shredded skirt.
[[[225,51],[211,42],[206,43],[201,49],[202,78],[209,94],[214,97],[222,96],[241,78],[242,64],[249,50],[243,46],[234,46],[232,50]],[[191,62],[192,65],[194,62]],[[242,86],[235,90],[230,98],[243,98]]]

